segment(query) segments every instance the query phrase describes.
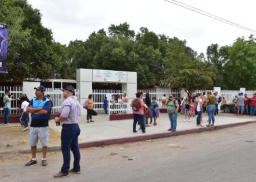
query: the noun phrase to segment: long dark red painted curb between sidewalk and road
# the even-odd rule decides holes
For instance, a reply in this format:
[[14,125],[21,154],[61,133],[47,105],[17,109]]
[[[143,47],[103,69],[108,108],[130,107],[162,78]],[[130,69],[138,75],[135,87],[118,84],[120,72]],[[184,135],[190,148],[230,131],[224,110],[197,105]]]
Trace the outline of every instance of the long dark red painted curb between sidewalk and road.
[[[204,131],[213,131],[216,129],[236,127],[236,126],[240,126],[240,125],[247,125],[250,123],[256,123],[256,120],[255,121],[244,121],[242,123],[231,123],[231,124],[226,124],[226,125],[217,125],[215,127],[200,127],[200,128],[195,128],[195,129],[185,129],[185,130],[176,131],[176,132],[166,131],[163,133],[155,133],[155,134],[150,134],[150,135],[140,135],[140,136],[126,137],[126,138],[113,138],[113,139],[108,139],[108,140],[96,140],[96,141],[92,141],[92,142],[83,142],[83,143],[79,144],[79,148],[100,147],[100,146],[108,146],[108,145],[113,145],[113,144],[124,144],[124,143],[140,142],[140,141],[159,139],[159,138],[168,138],[171,136],[187,135],[187,134],[192,134],[192,133],[201,133]],[[49,152],[60,151],[60,150],[61,150],[61,146],[52,146],[52,147],[48,148]],[[41,151],[42,151],[42,149],[37,150],[37,152],[41,152]],[[21,150],[20,151],[20,153],[22,153],[22,154],[27,154],[30,152],[31,152],[30,150]]]

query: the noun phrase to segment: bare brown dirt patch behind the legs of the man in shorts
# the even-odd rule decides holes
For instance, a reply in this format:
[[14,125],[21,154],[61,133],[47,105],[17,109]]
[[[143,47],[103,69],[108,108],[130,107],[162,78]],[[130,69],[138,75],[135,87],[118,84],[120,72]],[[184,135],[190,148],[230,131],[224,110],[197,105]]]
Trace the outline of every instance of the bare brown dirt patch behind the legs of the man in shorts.
[[[30,149],[29,130],[22,131],[21,126],[0,127],[0,138],[0,156]],[[59,131],[49,129],[49,146],[60,146]]]

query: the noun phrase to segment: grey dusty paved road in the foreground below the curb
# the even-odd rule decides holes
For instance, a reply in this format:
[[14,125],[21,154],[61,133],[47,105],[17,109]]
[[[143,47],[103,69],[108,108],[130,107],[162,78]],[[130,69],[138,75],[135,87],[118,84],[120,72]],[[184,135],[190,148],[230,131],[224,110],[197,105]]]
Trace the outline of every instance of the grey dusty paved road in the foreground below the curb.
[[[62,163],[24,167],[27,158],[0,163],[0,181],[256,181],[256,124],[173,138],[81,150],[82,174],[53,179]],[[124,150],[120,150],[124,148]],[[128,160],[135,157],[135,160]]]

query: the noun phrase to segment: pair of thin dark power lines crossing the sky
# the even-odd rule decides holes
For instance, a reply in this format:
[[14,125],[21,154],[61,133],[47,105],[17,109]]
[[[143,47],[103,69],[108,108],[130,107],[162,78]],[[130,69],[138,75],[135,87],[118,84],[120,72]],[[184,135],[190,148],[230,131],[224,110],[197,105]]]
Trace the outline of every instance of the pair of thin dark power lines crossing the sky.
[[256,34],[256,30],[253,30],[253,29],[251,29],[251,28],[247,28],[247,27],[245,27],[245,26],[241,26],[240,24],[236,24],[236,23],[231,22],[231,21],[229,21],[229,20],[226,20],[226,19],[224,19],[224,18],[220,18],[219,16],[215,16],[215,15],[213,15],[213,14],[211,14],[211,13],[207,13],[207,11],[202,11],[201,9],[198,9],[198,8],[196,8],[196,7],[192,7],[192,6],[190,6],[190,5],[186,5],[185,3],[181,3],[181,2],[175,1],[175,0],[171,0],[171,1],[169,1],[169,0],[164,0],[164,1],[167,1],[168,3],[172,3],[172,4],[174,4],[174,5],[178,5],[178,6],[180,6],[180,7],[184,7],[185,9],[189,9],[190,11],[194,11],[194,12],[196,12],[196,13],[200,13],[200,14],[203,15],[203,16],[207,16],[207,17],[212,18],[212,19],[215,19],[215,20],[217,20],[217,21],[219,21],[219,22],[223,22],[223,23],[225,23],[225,24],[229,24],[229,25],[234,26],[234,27],[236,27],[236,28],[240,28],[240,29],[242,29],[242,30],[247,30],[247,31],[249,31],[249,32],[251,32],[251,33],[253,33],[253,34]]

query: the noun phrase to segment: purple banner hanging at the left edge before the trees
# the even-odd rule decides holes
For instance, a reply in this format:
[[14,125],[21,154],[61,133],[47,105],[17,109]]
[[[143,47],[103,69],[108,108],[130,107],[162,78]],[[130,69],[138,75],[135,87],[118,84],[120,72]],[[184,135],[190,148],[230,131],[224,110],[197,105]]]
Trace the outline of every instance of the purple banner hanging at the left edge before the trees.
[[0,73],[7,73],[7,26],[0,24]]

